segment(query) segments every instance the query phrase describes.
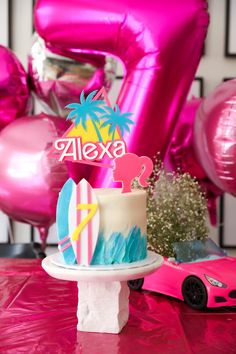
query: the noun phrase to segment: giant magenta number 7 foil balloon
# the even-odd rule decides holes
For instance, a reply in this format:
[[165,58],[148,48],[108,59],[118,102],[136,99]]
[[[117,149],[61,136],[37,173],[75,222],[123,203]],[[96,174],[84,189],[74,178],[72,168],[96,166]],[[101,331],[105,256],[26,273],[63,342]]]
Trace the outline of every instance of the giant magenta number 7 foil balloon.
[[[133,112],[128,150],[165,154],[198,66],[208,26],[205,0],[38,0],[35,25],[48,48],[76,58],[106,53],[125,67],[121,112]],[[94,169],[93,186],[111,172]]]

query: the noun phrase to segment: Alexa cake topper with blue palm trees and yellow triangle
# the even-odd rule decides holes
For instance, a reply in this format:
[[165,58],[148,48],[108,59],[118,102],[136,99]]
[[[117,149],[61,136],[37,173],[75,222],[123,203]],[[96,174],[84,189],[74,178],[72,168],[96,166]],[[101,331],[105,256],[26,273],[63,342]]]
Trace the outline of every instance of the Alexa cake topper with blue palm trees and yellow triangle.
[[[99,99],[101,96],[104,100]],[[74,121],[55,141],[52,153],[61,162],[67,160],[112,168],[107,160],[127,152],[123,135],[133,124],[129,118],[132,113],[121,113],[118,105],[113,109],[104,88],[92,91],[86,98],[82,91],[80,103],[71,103],[66,108],[71,110],[67,120]]]

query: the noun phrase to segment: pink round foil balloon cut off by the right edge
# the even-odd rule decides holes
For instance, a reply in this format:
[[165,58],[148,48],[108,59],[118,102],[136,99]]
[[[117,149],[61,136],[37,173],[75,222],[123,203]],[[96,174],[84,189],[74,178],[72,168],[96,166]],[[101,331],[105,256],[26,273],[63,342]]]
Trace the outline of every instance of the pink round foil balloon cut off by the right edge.
[[194,129],[199,161],[210,180],[236,195],[236,80],[219,85],[200,106]]

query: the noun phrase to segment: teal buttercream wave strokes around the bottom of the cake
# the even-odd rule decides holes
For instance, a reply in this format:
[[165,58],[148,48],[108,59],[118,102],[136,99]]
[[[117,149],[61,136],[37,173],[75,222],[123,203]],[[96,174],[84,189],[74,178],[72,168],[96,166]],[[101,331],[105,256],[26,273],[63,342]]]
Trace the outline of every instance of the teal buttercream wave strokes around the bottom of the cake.
[[114,232],[105,240],[99,234],[91,264],[131,263],[147,257],[147,239],[139,227],[134,226],[128,236]]

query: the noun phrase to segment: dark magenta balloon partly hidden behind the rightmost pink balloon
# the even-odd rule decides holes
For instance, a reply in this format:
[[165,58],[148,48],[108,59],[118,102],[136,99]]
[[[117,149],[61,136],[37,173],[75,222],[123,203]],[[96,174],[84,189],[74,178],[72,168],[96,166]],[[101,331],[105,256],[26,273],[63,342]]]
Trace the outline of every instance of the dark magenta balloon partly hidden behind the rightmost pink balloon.
[[209,217],[212,225],[215,226],[217,224],[216,201],[223,192],[207,176],[194,149],[194,123],[202,101],[202,98],[193,98],[184,105],[170,140],[165,166],[172,171],[188,172],[197,178],[206,193]]

